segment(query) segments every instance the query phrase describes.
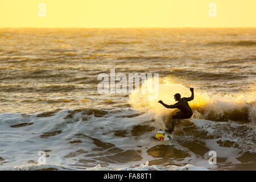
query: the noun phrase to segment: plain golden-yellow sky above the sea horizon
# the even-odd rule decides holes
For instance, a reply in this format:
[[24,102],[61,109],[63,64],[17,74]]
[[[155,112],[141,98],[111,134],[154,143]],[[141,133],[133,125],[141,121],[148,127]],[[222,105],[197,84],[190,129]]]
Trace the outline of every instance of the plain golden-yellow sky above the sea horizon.
[[0,27],[256,27],[255,7],[256,0],[1,0]]

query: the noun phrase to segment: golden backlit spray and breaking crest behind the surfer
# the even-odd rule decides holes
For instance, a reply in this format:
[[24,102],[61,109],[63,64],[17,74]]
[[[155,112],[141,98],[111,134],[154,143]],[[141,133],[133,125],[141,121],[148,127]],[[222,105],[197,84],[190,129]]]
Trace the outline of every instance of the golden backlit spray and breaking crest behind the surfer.
[[[144,82],[146,84],[146,82]],[[189,88],[183,86],[172,77],[160,78],[158,98],[150,100],[148,93],[132,92],[129,104],[135,109],[152,110],[156,115],[170,118],[176,109],[166,109],[158,103],[162,100],[166,104],[175,104],[174,94],[180,93],[181,97],[190,97]],[[152,93],[151,93],[152,94]],[[255,121],[255,92],[238,94],[225,94],[209,96],[208,93],[195,90],[195,98],[189,102],[194,111],[193,118],[208,119],[211,121]]]

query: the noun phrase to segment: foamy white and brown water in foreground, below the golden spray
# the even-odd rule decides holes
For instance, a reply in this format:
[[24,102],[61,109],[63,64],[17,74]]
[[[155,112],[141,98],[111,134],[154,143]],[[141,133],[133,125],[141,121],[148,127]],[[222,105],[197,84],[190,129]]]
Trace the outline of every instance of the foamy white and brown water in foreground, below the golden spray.
[[[180,123],[174,144],[159,143],[154,135],[163,126],[159,118],[164,113],[160,113],[156,117],[149,110],[118,108],[2,113],[0,168],[197,170],[216,168],[204,159],[210,150],[217,151],[223,168],[255,155],[255,133],[247,123],[192,119]],[[42,150],[46,165],[37,163]],[[195,167],[198,163],[200,167]]]

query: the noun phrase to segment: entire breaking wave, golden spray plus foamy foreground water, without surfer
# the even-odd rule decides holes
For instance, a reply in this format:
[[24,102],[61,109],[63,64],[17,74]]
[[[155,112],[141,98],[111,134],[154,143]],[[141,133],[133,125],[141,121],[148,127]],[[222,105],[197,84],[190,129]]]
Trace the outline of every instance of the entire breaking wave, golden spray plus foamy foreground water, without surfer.
[[[175,79],[164,77],[160,78],[158,98],[135,92],[129,95],[133,109],[1,113],[0,169],[241,169],[245,163],[254,168],[255,92],[209,96],[195,89],[195,99],[189,102],[193,117],[180,121],[172,143],[159,143],[156,131],[176,110],[165,109],[157,101],[174,104],[174,93],[191,94]],[[46,165],[37,164],[38,151],[46,152]],[[209,151],[217,152],[217,166],[208,163]]]

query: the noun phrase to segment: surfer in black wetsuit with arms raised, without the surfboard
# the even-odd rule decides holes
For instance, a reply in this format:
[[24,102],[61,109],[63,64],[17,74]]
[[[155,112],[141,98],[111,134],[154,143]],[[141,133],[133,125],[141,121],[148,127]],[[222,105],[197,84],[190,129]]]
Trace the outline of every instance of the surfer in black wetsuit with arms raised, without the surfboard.
[[166,108],[171,108],[171,109],[177,108],[180,110],[179,112],[175,113],[172,116],[172,124],[171,124],[171,128],[168,127],[169,128],[168,132],[172,133],[172,131],[174,131],[174,126],[177,119],[188,119],[188,118],[191,118],[191,116],[193,115],[192,109],[188,105],[188,101],[192,101],[194,99],[194,89],[190,88],[190,91],[192,93],[191,97],[181,98],[180,94],[176,93],[174,95],[174,99],[175,101],[178,101],[178,102],[174,105],[167,105],[167,104],[164,104],[163,101],[161,100],[158,101],[160,104],[162,104]]

